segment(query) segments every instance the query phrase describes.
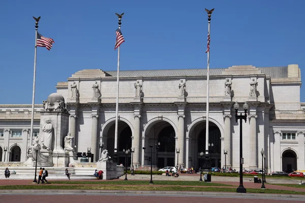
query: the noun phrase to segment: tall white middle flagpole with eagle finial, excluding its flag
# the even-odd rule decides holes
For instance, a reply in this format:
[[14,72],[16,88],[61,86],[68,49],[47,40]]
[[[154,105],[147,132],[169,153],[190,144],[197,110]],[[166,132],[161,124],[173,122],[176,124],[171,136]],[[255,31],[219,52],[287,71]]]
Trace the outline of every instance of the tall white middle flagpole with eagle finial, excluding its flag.
[[[122,15],[118,15],[118,29],[121,27]],[[117,75],[116,75],[116,104],[115,104],[115,131],[114,131],[114,161],[117,161],[117,128],[118,128],[118,93],[119,93],[119,51],[117,50]]]

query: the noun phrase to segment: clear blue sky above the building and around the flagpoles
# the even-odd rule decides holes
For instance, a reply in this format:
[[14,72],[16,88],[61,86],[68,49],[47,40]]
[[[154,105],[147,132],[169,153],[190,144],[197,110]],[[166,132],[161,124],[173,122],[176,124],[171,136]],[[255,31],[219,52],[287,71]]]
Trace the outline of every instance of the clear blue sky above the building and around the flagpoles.
[[[116,70],[117,17],[121,70],[206,68],[207,14],[210,67],[299,64],[305,81],[305,1],[3,1],[0,18],[0,104],[31,104],[35,20],[55,43],[38,47],[36,104],[83,69]],[[301,101],[305,102],[304,84]]]

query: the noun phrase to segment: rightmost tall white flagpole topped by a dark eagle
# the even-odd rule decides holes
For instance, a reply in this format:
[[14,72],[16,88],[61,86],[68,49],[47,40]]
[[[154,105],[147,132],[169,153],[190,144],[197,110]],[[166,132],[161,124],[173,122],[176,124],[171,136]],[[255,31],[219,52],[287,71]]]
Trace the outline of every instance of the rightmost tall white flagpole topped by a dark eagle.
[[[212,10],[207,10],[207,20],[208,20],[208,38],[210,38],[210,23],[211,23],[211,14],[214,11]],[[209,121],[209,39],[208,39],[208,45],[207,45],[207,77],[206,77],[206,128],[205,128],[205,154],[209,153],[208,149],[208,121]]]

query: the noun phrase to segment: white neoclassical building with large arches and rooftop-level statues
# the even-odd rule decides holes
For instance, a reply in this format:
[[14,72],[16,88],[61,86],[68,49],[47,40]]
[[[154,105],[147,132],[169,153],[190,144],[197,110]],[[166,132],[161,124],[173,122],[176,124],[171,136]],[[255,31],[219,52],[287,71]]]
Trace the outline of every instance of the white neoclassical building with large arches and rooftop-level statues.
[[[300,103],[297,64],[210,69],[209,149],[205,149],[206,73],[206,69],[120,71],[116,145],[115,71],[79,71],[67,82],[58,82],[57,92],[46,101],[65,100],[69,113],[66,131],[74,138],[71,146],[76,146],[78,153],[91,149],[94,156],[90,161],[97,161],[103,149],[113,156],[117,146],[122,163],[123,149],[134,148],[129,160],[136,167],[152,162],[159,167],[178,163],[199,168],[200,152],[209,150],[212,166],[226,164],[236,170],[240,131],[233,104],[240,104],[239,114],[247,101],[249,116],[242,127],[243,166],[261,168],[263,149],[268,172],[305,170],[305,103]],[[35,106],[34,136],[45,122],[41,121],[45,105]],[[31,111],[31,105],[0,105],[0,161],[27,160]],[[104,143],[103,148],[100,143]],[[62,142],[53,141],[56,145],[64,148]],[[142,149],[150,152],[149,146],[153,146],[152,156]],[[224,149],[228,150],[226,157]]]

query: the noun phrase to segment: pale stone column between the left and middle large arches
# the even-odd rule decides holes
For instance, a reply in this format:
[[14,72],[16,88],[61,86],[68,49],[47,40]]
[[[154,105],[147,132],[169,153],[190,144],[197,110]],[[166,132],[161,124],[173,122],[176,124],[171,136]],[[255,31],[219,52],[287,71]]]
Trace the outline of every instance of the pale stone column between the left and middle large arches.
[[134,148],[135,152],[133,154],[133,164],[136,166],[136,168],[140,165],[140,118],[141,115],[135,115],[134,120]]

